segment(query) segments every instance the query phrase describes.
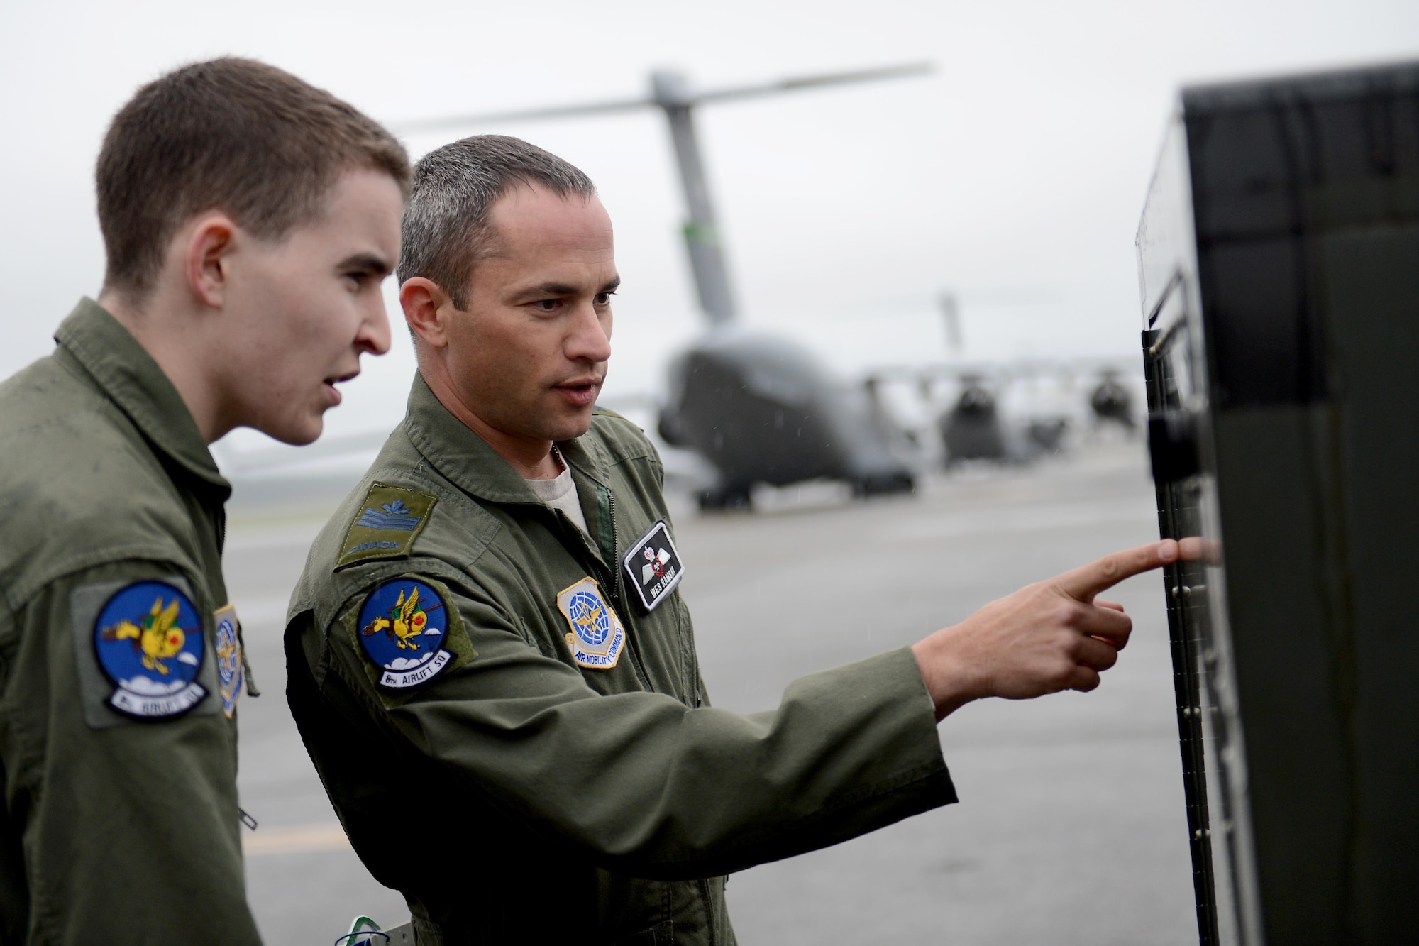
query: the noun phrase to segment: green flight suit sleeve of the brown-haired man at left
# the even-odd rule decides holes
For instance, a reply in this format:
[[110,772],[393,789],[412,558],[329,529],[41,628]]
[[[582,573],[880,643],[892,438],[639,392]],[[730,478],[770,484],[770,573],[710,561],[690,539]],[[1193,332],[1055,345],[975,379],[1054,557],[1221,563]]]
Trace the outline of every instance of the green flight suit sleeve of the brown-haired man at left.
[[[115,614],[138,601],[116,631]],[[28,942],[260,943],[210,608],[176,568],[129,561],[54,581],[14,612],[0,641],[0,763]],[[143,649],[128,628],[152,631],[148,614],[167,636]],[[102,646],[128,648],[139,666],[148,656],[150,669],[125,689]]]

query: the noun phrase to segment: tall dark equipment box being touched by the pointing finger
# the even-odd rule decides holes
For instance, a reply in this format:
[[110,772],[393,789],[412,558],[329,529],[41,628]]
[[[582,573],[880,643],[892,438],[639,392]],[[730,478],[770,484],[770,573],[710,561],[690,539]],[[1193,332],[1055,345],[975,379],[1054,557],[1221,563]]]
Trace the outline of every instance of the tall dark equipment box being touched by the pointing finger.
[[1419,942],[1419,64],[1183,91],[1138,263],[1199,939]]

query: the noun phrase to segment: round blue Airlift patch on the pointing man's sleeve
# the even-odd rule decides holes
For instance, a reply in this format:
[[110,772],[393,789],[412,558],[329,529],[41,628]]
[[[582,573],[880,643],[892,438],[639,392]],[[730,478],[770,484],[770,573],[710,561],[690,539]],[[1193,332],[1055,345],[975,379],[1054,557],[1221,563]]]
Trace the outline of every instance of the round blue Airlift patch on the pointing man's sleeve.
[[444,648],[448,611],[437,591],[416,578],[393,578],[369,592],[359,611],[359,642],[383,673],[379,685],[402,690],[438,675],[453,652]]

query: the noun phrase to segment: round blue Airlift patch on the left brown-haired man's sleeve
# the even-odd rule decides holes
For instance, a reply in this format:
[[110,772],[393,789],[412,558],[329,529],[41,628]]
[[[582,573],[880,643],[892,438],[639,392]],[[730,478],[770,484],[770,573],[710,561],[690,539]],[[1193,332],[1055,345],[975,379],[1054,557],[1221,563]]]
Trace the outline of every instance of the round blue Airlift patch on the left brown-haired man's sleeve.
[[106,702],[138,719],[182,716],[201,702],[206,646],[197,609],[163,581],[119,588],[94,622],[98,665],[114,685]]

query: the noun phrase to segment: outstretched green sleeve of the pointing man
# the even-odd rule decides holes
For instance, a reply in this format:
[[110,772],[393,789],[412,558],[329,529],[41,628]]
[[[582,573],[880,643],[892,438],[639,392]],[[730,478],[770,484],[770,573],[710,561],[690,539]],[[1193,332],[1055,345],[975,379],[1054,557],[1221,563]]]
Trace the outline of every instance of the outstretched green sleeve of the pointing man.
[[908,649],[805,676],[755,714],[603,696],[490,595],[443,578],[420,580],[457,612],[455,663],[410,692],[380,687],[358,636],[359,594],[326,634],[299,635],[315,679],[355,690],[333,702],[607,869],[728,874],[955,801]]

